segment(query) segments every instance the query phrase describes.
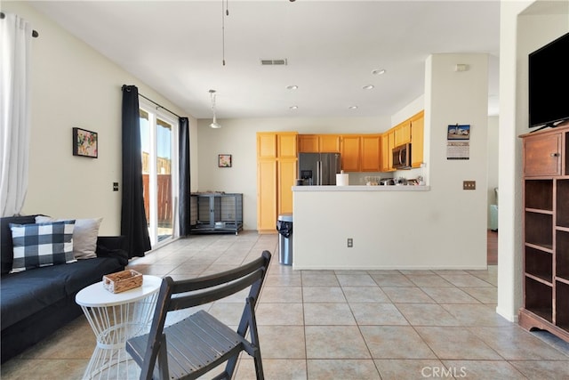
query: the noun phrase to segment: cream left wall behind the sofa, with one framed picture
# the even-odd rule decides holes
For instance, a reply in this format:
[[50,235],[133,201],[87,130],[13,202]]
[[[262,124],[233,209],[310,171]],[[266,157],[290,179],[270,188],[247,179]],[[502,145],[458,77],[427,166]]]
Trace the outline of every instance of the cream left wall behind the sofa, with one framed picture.
[[[150,99],[186,114],[28,4],[3,2],[2,9],[39,32],[32,47],[29,186],[22,214],[102,216],[100,234],[118,234],[121,191],[112,191],[112,183],[122,188],[121,86],[137,85]],[[196,145],[196,119],[189,123]],[[99,133],[99,158],[72,155],[75,126]]]

